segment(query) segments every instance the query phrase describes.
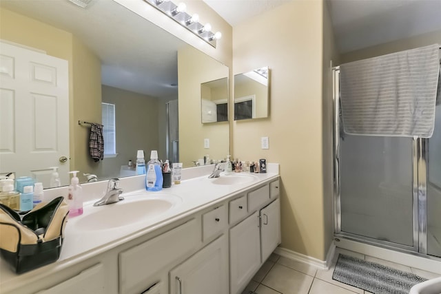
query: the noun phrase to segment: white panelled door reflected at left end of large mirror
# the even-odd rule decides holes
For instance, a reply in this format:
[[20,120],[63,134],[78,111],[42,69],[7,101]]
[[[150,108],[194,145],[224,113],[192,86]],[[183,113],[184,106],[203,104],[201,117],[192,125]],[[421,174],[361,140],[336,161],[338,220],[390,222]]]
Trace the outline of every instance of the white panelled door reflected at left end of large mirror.
[[[0,174],[69,182],[68,61],[0,42]],[[68,160],[60,162],[65,156]]]

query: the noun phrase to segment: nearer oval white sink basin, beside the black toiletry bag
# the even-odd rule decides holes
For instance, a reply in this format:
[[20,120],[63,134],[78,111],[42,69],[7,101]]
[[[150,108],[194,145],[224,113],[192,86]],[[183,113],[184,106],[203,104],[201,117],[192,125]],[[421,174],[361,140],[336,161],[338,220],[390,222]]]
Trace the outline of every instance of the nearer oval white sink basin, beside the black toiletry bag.
[[161,216],[181,201],[180,197],[165,193],[127,196],[120,202],[88,208],[85,210],[88,213],[75,222],[75,227],[85,231],[124,227]]

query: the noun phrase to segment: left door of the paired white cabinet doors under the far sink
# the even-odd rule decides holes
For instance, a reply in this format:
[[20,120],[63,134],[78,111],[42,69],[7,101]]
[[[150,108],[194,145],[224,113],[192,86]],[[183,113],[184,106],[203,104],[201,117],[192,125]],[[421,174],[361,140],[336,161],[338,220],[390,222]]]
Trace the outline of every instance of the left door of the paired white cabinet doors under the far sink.
[[231,294],[243,290],[260,267],[258,211],[229,230]]

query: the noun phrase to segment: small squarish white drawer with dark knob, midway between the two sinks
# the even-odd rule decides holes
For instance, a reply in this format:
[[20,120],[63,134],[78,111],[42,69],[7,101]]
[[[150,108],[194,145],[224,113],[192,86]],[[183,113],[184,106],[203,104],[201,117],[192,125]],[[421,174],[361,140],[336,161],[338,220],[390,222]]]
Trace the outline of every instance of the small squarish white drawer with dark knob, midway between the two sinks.
[[218,235],[228,225],[228,215],[225,205],[204,213],[202,216],[202,236],[205,242],[209,238]]

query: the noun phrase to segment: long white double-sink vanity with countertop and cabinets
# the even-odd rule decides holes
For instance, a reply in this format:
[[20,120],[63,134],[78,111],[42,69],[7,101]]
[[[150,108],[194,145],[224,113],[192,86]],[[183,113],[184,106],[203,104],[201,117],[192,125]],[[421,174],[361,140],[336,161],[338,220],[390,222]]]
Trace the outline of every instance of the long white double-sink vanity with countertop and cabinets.
[[100,207],[91,192],[68,220],[59,260],[21,275],[1,261],[0,291],[241,293],[280,244],[278,165],[267,167],[219,178],[188,169],[158,192],[141,189],[143,176],[123,178],[124,200]]

